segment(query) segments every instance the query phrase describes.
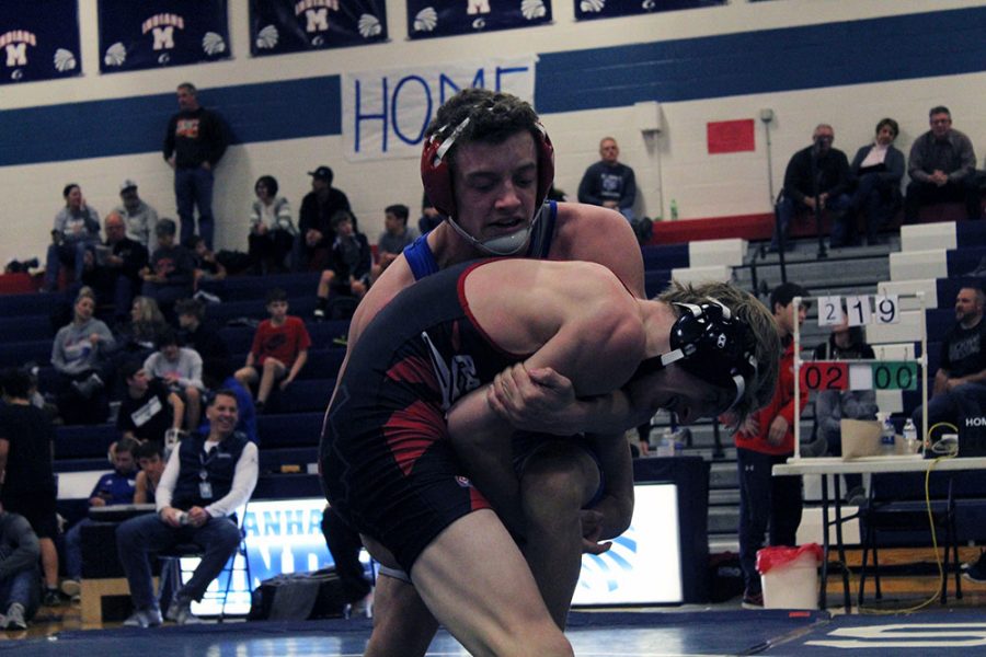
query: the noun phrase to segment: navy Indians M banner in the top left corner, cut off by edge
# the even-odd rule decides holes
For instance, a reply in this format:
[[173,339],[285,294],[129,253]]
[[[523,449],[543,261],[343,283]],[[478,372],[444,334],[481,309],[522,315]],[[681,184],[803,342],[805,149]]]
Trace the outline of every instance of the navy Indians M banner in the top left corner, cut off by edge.
[[0,2],[0,84],[82,72],[77,0]]

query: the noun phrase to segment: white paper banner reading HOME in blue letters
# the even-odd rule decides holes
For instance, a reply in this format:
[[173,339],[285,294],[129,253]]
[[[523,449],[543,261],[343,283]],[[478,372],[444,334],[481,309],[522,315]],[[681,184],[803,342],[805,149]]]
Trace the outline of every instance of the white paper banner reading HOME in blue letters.
[[343,77],[346,160],[419,158],[438,107],[460,89],[506,91],[534,102],[536,57],[417,66]]

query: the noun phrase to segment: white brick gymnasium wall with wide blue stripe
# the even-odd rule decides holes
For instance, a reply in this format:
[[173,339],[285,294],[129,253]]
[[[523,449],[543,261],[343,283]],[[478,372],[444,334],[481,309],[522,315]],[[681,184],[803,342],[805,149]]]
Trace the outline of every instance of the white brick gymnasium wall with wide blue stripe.
[[[160,154],[174,88],[185,80],[219,110],[238,143],[217,171],[217,246],[245,249],[257,176],[278,178],[296,211],[319,164],[335,170],[371,240],[392,203],[416,208],[414,160],[349,163],[342,155],[340,76],[456,60],[537,55],[535,102],[558,150],[557,185],[574,197],[604,135],[637,171],[638,212],[683,219],[767,212],[790,154],[830,123],[851,158],[883,116],[907,151],[945,104],[986,152],[986,1],[775,0],[576,23],[570,0],[554,23],[489,34],[405,39],[405,4],[387,1],[391,42],[251,58],[245,2],[230,2],[233,58],[197,67],[99,74],[96,3],[80,0],[78,78],[0,87],[0,263],[42,256],[61,188],[77,182],[105,215],[133,177],[174,217]],[[933,9],[933,11],[932,11]],[[662,131],[644,135],[633,103],[661,103]],[[770,108],[771,147],[758,117]],[[709,154],[709,122],[754,119],[755,150]],[[768,161],[772,175],[768,176]],[[771,185],[772,183],[772,185]]]

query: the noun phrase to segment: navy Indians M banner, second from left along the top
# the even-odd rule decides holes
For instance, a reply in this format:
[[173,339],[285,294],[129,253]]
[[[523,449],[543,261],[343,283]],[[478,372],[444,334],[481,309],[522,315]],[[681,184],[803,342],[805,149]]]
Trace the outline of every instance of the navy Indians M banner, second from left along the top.
[[104,73],[228,59],[227,0],[100,0]]

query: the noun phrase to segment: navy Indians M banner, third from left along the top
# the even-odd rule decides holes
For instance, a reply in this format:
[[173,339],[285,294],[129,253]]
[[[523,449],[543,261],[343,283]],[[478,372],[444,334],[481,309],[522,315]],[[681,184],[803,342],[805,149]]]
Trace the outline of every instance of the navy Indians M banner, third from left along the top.
[[383,0],[250,0],[254,57],[386,41]]

